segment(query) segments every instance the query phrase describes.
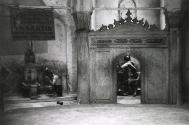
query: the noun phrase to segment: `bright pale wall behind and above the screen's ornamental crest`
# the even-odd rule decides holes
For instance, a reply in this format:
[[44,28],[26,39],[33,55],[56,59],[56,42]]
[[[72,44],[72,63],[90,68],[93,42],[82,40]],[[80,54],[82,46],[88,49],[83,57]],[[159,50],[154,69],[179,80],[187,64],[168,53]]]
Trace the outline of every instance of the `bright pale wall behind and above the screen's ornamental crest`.
[[[125,2],[126,4],[131,5],[125,5],[124,7],[127,8],[135,8],[132,4],[134,3],[136,7],[160,7],[160,0],[134,0],[132,3],[132,0],[96,0],[96,3],[93,5],[97,8],[103,8],[103,9],[95,9],[93,11],[92,16],[92,29],[98,29],[102,24],[108,25],[112,24],[114,19],[118,19],[118,10],[116,9],[106,9],[106,8],[118,8],[122,7],[119,6],[120,2]],[[133,11],[136,12],[133,13],[133,16],[137,16],[138,19],[144,18],[145,20],[148,20],[150,24],[156,24],[160,25],[160,11],[159,10],[137,10]],[[126,11],[125,11],[126,13]],[[123,14],[124,15],[124,14]],[[126,16],[123,16],[123,18]],[[100,20],[99,20],[100,19]]]

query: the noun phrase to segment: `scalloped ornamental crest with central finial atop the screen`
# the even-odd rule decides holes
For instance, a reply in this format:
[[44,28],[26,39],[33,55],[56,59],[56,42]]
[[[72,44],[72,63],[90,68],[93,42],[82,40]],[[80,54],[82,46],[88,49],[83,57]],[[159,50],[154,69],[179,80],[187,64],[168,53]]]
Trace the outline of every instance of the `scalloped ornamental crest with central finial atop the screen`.
[[114,29],[116,27],[122,27],[124,25],[137,26],[144,31],[160,31],[160,28],[158,28],[158,26],[156,26],[155,24],[150,25],[147,20],[144,21],[144,18],[142,18],[141,20],[138,20],[137,17],[132,18],[132,13],[130,12],[130,10],[127,11],[126,15],[127,17],[125,19],[121,18],[119,21],[114,19],[114,23],[109,24],[108,26],[102,24],[98,31],[103,32]]

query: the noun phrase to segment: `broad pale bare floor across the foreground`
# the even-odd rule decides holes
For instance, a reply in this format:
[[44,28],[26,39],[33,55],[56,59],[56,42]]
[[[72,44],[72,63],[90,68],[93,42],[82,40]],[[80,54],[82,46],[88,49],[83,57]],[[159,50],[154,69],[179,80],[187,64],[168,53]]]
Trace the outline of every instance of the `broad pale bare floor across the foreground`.
[[5,125],[189,125],[189,106],[91,104],[7,111]]

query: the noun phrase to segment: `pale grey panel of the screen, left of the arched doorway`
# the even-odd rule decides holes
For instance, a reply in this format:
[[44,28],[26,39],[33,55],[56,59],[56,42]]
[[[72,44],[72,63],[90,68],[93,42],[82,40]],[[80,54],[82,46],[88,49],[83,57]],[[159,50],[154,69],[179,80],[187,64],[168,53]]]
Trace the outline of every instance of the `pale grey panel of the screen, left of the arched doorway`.
[[96,51],[95,55],[94,75],[91,77],[93,79],[91,89],[94,92],[92,102],[110,103],[113,98],[111,55],[109,51]]

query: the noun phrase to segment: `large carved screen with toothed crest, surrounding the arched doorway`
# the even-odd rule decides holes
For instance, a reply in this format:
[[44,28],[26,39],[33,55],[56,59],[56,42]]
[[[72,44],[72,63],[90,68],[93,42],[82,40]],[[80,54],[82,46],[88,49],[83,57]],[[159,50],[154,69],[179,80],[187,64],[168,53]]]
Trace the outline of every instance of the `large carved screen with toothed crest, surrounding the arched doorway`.
[[128,51],[141,62],[141,102],[168,103],[168,32],[130,15],[88,35],[90,103],[117,102],[115,63]]

